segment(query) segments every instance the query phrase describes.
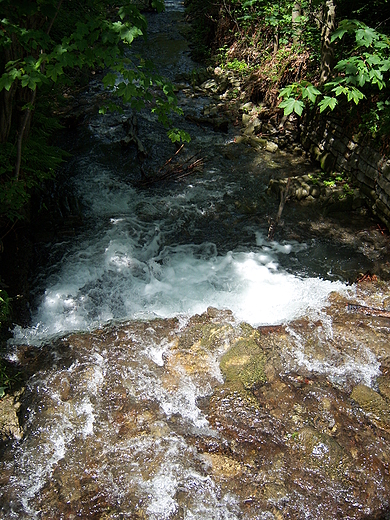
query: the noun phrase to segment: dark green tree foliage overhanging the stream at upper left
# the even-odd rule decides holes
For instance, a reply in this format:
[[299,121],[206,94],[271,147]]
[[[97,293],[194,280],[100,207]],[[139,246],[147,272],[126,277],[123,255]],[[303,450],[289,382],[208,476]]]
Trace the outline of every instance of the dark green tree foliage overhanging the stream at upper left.
[[[164,2],[153,0],[152,6],[161,11]],[[31,189],[52,177],[61,161],[59,150],[47,144],[50,132],[37,121],[41,93],[72,85],[80,71],[104,70],[111,99],[101,112],[123,104],[151,106],[169,128],[170,114],[181,111],[173,86],[154,73],[149,61],[126,52],[147,29],[130,0],[1,0],[1,7],[0,96],[5,100],[9,93],[9,106],[0,114],[1,128],[8,127],[8,135],[0,135],[0,216],[14,220],[23,217]],[[168,135],[188,139],[183,132]]]

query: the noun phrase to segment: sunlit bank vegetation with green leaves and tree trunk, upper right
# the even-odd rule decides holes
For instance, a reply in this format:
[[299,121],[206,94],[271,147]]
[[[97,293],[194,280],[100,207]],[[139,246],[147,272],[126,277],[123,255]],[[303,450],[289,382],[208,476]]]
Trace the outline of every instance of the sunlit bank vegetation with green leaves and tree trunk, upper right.
[[203,58],[242,74],[253,102],[282,108],[285,116],[340,109],[388,151],[388,2],[229,0],[211,11],[187,0],[187,6],[196,54],[206,42]]

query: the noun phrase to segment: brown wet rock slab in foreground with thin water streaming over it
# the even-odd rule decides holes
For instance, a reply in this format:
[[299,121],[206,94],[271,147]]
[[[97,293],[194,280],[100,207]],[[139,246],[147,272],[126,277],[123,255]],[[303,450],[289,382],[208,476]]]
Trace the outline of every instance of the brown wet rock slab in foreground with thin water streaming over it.
[[387,518],[390,318],[358,305],[389,296],[367,283],[280,326],[210,308],[57,342],[4,451],[0,518]]

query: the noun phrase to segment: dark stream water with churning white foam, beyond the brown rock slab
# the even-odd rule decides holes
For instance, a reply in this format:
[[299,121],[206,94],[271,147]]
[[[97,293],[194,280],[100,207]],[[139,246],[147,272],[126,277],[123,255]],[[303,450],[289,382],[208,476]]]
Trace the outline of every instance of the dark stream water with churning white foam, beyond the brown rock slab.
[[[148,55],[171,77],[194,67],[174,25],[181,11],[171,2],[166,13],[150,17]],[[186,114],[207,102],[180,99]],[[232,160],[234,128],[205,132],[179,120],[192,135],[179,160],[197,153],[203,169],[180,182],[140,188],[137,160],[119,144],[127,117],[91,117],[73,139],[67,171],[84,224],[75,237],[47,246],[33,324],[15,331],[16,342],[40,343],[111,320],[190,316],[210,305],[253,325],[274,324],[318,308],[341,289],[348,248],[266,238],[268,180],[294,165],[245,149]],[[144,168],[153,175],[175,147],[150,113],[138,120],[149,152]]]

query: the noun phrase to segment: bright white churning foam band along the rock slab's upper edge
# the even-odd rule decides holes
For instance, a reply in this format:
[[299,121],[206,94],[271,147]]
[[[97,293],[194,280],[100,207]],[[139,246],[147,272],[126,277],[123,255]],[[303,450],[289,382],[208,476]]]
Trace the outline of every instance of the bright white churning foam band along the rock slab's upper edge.
[[322,306],[330,292],[345,288],[280,271],[269,251],[210,257],[199,254],[199,246],[183,245],[140,260],[131,247],[116,244],[110,254],[106,249],[93,256],[69,258],[60,281],[46,289],[35,325],[15,330],[16,343],[35,344],[113,319],[191,316],[209,306],[230,309],[253,326],[276,324]]

